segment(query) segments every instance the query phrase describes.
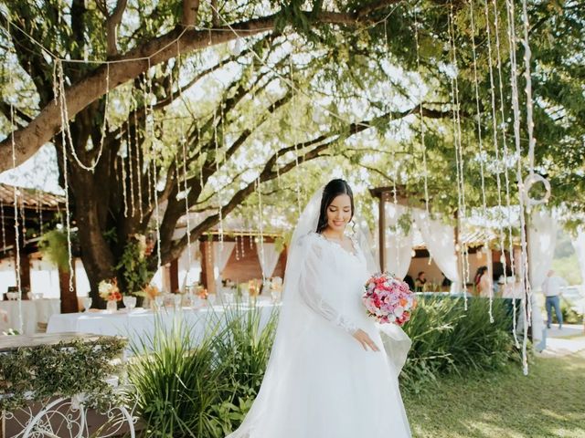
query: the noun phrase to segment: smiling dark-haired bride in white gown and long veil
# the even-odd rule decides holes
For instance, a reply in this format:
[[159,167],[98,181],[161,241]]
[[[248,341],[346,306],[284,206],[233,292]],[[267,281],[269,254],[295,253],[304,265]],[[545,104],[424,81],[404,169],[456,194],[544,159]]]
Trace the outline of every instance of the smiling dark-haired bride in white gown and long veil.
[[301,214],[261,390],[228,438],[410,437],[398,382],[410,339],[366,316],[360,297],[376,268],[365,239],[345,234],[353,217],[344,180]]

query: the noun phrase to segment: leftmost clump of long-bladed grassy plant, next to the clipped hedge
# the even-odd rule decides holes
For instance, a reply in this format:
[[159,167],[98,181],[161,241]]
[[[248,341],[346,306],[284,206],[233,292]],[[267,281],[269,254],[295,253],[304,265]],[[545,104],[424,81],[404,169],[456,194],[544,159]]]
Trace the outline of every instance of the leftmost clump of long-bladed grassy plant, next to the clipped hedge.
[[131,344],[136,357],[128,366],[128,377],[148,436],[209,436],[214,429],[220,369],[212,338],[196,347],[193,330],[180,317],[170,328],[157,319],[152,337]]

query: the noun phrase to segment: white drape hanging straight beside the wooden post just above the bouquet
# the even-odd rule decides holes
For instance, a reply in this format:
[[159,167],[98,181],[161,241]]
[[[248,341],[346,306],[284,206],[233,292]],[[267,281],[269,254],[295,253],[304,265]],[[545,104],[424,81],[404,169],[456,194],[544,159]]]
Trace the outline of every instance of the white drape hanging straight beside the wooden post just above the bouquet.
[[[399,278],[404,278],[409,272],[410,259],[412,252],[412,226],[408,235],[404,235],[404,231],[397,227],[399,219],[403,214],[407,214],[407,209],[404,205],[395,203],[386,203],[386,235],[384,242],[386,243],[386,268],[390,274],[394,274]],[[394,228],[394,229],[388,229]]]

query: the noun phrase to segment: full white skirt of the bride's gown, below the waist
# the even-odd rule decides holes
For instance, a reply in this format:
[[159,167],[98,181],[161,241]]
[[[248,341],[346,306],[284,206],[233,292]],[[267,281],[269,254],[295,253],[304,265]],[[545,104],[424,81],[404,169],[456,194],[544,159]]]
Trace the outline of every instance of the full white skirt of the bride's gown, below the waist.
[[[410,437],[396,372],[385,352],[364,350],[311,312],[303,326],[294,339],[297,354],[282,369],[271,370],[271,388],[261,390],[247,421],[229,438]],[[365,327],[381,346],[375,325],[366,319]]]

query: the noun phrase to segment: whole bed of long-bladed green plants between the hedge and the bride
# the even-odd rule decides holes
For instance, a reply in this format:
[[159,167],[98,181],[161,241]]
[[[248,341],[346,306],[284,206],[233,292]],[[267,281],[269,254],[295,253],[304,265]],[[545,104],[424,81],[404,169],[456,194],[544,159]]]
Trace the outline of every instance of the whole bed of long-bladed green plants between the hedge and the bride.
[[272,316],[260,328],[260,317],[259,308],[227,310],[207,320],[196,342],[179,316],[170,328],[157,321],[154,336],[131,346],[128,375],[149,436],[221,438],[239,425],[260,388],[276,327]]

